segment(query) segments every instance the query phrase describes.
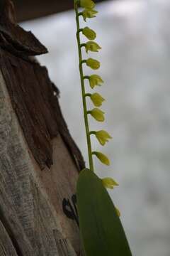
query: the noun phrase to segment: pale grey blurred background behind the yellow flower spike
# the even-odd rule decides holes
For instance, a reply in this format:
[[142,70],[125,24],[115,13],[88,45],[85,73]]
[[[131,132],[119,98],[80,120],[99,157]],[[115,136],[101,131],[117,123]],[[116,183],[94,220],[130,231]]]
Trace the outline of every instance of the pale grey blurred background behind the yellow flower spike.
[[[94,159],[96,172],[120,184],[111,196],[120,209],[132,254],[169,256],[170,1],[107,1],[96,9],[98,18],[81,26],[93,28],[102,46],[99,54],[90,56],[101,61],[97,73],[105,83],[96,91],[106,98],[106,122],[90,118],[90,126],[113,136],[104,147],[93,139],[93,149],[112,162],[106,167]],[[21,26],[33,31],[49,50],[38,60],[60,89],[62,112],[87,161],[74,11]],[[91,70],[84,68],[84,73]]]

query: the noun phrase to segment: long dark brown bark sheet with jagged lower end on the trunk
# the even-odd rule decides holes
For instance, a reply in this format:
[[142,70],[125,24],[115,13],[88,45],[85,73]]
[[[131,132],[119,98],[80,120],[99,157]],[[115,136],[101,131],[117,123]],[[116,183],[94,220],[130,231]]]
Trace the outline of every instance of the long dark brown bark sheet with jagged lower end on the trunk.
[[40,168],[52,165],[51,140],[61,134],[78,168],[82,169],[84,161],[69,135],[57,100],[58,92],[54,95],[46,68],[4,50],[0,51],[0,65],[13,108]]

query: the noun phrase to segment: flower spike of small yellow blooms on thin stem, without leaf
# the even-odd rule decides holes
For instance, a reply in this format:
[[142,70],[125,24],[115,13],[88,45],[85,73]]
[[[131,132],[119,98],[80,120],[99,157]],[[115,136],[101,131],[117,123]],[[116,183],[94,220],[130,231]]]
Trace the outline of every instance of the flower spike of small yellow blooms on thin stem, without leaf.
[[[92,0],[74,0],[74,9],[76,12],[76,21],[77,21],[77,44],[78,44],[78,50],[79,50],[79,73],[80,73],[80,79],[81,79],[81,92],[82,92],[82,100],[83,100],[83,107],[84,107],[84,122],[86,127],[86,141],[88,146],[88,154],[89,154],[89,169],[91,171],[94,171],[94,161],[93,156],[96,156],[103,164],[106,164],[107,166],[110,165],[110,160],[108,159],[108,156],[105,154],[98,152],[98,151],[92,151],[91,146],[91,136],[96,136],[96,139],[98,139],[98,142],[104,146],[106,142],[109,141],[109,139],[112,139],[111,135],[108,134],[105,130],[100,131],[90,131],[89,129],[89,115],[94,117],[96,121],[103,122],[105,120],[104,112],[99,109],[105,99],[98,93],[86,93],[86,86],[85,86],[85,80],[88,80],[89,86],[91,89],[94,90],[96,86],[101,86],[103,84],[103,79],[100,75],[94,74],[94,75],[84,75],[84,69],[83,65],[87,65],[89,68],[93,70],[98,70],[100,68],[100,62],[93,58],[87,58],[86,60],[82,59],[82,50],[85,48],[86,53],[96,52],[98,53],[98,50],[101,50],[101,46],[98,45],[94,40],[96,39],[96,32],[89,28],[88,26],[85,26],[84,28],[80,28],[79,18],[82,16],[84,18],[84,21],[86,21],[88,18],[94,18],[96,17],[96,14],[98,11],[94,9],[95,3]],[[83,9],[82,11],[79,11],[79,8]],[[86,43],[81,43],[80,40],[80,33],[82,33],[86,38],[89,39]],[[94,108],[92,110],[87,110],[87,104],[86,104],[86,98],[89,97],[91,99],[91,102],[94,105]],[[106,188],[114,188],[115,186],[118,186],[118,183],[113,180],[113,178],[103,178],[102,179],[103,186]],[[118,211],[119,214],[119,211]]]

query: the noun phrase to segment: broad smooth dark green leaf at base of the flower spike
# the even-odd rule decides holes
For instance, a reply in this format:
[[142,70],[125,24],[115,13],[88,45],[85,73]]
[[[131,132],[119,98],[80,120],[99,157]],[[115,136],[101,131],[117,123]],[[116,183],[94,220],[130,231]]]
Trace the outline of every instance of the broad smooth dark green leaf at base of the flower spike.
[[79,175],[77,206],[86,256],[132,256],[115,206],[89,169]]

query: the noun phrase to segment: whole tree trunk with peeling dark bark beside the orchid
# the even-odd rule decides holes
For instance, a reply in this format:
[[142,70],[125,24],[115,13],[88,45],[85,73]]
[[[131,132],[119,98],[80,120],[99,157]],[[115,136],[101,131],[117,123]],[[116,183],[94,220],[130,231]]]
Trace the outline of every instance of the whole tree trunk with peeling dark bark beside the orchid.
[[81,255],[76,182],[84,168],[47,70],[47,49],[0,5],[0,255]]

